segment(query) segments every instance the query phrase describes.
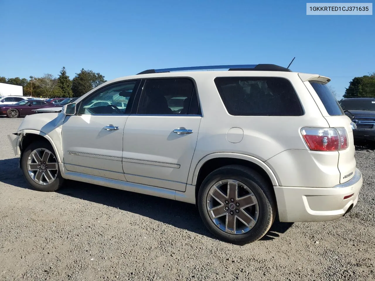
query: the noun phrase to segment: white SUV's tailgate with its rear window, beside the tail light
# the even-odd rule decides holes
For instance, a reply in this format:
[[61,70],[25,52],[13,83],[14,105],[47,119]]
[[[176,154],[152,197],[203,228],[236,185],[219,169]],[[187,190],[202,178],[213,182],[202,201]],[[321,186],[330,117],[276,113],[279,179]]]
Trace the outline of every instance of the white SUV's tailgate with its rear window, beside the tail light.
[[340,171],[340,183],[344,183],[353,178],[356,171],[356,159],[354,158],[354,138],[351,127],[351,119],[344,114],[336,97],[327,87],[329,78],[320,76],[309,81],[305,85],[317,103],[324,118],[330,127],[344,127],[348,134],[349,147],[339,151],[338,169]]

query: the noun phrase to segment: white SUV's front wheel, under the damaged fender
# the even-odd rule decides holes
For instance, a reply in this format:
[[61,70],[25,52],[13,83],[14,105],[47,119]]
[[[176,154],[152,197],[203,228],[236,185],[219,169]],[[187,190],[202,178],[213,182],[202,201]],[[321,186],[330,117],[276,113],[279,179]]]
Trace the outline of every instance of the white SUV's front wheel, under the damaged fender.
[[27,182],[39,191],[56,191],[63,184],[54,149],[48,141],[31,143],[23,152],[22,171]]

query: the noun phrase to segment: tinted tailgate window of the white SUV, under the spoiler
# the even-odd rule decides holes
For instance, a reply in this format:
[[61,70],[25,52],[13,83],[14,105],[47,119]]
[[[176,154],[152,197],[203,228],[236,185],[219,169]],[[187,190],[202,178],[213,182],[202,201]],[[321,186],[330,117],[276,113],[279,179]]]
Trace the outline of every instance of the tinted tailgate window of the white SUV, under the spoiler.
[[335,95],[330,91],[326,84],[320,81],[309,81],[315,92],[318,94],[326,111],[331,116],[344,115]]

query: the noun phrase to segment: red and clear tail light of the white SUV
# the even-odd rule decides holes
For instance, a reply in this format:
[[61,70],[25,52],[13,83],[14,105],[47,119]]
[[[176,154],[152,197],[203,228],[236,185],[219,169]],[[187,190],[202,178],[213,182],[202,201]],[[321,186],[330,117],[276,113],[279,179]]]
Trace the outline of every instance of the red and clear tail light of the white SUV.
[[314,151],[339,151],[348,148],[348,134],[344,127],[302,128],[303,139]]

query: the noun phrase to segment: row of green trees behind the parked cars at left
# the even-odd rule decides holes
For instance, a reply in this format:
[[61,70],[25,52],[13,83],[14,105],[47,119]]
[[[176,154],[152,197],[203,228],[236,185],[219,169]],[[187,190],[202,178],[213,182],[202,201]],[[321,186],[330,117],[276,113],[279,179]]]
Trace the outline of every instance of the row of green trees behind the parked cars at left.
[[5,78],[0,76],[0,82],[13,85],[21,85],[24,88],[24,96],[53,98],[53,97],[80,97],[88,91],[106,82],[104,76],[99,72],[81,69],[75,73],[71,80],[63,67],[58,77],[50,73],[42,77],[30,76],[26,78]]

